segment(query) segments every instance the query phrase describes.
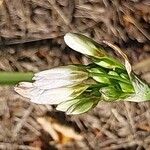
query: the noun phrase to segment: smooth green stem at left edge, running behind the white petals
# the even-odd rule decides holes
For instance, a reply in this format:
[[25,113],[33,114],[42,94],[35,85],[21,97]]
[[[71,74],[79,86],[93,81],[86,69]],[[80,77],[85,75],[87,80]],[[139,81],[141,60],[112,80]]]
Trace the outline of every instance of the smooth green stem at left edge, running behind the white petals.
[[32,72],[4,72],[0,71],[0,85],[15,85],[22,81],[32,81]]

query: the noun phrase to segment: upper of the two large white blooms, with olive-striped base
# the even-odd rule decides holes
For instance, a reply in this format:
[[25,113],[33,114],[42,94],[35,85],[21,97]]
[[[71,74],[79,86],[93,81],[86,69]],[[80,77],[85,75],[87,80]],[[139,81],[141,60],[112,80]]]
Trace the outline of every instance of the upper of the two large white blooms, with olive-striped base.
[[83,68],[69,65],[36,73],[33,85],[40,89],[53,89],[77,85],[87,78],[88,73]]

